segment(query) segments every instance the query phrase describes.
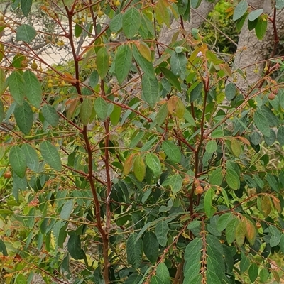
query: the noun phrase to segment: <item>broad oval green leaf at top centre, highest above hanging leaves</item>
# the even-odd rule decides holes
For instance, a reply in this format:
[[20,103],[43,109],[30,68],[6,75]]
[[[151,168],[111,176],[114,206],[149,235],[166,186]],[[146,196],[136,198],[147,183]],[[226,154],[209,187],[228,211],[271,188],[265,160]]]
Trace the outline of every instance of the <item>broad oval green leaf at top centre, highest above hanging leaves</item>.
[[139,11],[131,7],[126,10],[122,16],[122,29],[126,35],[126,38],[133,38],[138,32],[141,23],[141,14]]

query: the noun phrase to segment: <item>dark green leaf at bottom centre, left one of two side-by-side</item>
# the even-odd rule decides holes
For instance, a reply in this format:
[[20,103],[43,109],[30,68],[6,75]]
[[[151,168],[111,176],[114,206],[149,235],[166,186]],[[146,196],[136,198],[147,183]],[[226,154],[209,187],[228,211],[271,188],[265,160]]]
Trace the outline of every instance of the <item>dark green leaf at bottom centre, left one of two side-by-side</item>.
[[126,254],[127,262],[133,268],[138,268],[142,262],[143,256],[143,244],[142,240],[138,239],[136,241],[137,234],[132,233],[126,241]]

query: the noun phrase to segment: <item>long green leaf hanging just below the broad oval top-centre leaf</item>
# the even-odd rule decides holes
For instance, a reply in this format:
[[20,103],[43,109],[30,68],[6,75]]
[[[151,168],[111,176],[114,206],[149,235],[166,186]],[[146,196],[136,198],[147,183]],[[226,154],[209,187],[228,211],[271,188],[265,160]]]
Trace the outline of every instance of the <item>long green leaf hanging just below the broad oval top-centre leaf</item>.
[[122,82],[126,80],[127,75],[129,75],[129,70],[132,62],[132,52],[129,45],[119,46],[114,58],[114,62],[116,78],[119,81],[119,84],[122,84]]

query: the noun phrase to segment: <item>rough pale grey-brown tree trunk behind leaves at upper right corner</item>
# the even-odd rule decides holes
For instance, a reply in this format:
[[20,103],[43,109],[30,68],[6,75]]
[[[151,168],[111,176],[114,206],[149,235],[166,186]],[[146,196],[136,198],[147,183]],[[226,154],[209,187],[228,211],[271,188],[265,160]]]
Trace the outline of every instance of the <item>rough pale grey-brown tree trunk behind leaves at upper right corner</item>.
[[[273,18],[271,1],[251,0],[249,4],[256,9],[264,9],[263,13],[268,13],[269,17]],[[277,11],[277,29],[278,37],[284,35],[284,10]],[[261,80],[263,67],[265,67],[262,61],[271,57],[275,39],[274,36],[273,24],[269,20],[268,29],[263,40],[258,40],[255,31],[249,31],[247,23],[244,23],[244,27],[241,29],[241,34],[239,35],[238,49],[234,60],[235,70],[238,68],[246,70],[246,79],[238,74],[236,82],[239,89],[244,93],[256,84],[258,80]],[[257,62],[260,63],[256,65]],[[255,72],[255,70],[258,70],[258,72]]]

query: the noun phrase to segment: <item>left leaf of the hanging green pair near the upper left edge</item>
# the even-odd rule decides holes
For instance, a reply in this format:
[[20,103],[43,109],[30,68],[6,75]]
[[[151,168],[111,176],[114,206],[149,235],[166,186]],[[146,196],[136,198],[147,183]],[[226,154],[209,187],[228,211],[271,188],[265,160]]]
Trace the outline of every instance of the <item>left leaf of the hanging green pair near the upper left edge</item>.
[[11,95],[17,104],[23,104],[23,98],[26,94],[25,81],[18,71],[13,71],[7,78]]

